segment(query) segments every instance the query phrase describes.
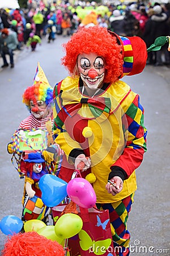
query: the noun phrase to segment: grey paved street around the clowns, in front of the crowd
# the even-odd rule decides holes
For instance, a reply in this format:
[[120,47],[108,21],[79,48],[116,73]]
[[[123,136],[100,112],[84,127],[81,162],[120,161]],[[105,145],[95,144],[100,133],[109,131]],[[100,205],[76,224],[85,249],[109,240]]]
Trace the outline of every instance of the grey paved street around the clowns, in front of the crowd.
[[[0,220],[8,214],[20,217],[22,212],[24,183],[19,179],[11,156],[6,151],[11,135],[29,114],[22,103],[22,94],[27,86],[32,85],[38,61],[52,87],[67,75],[60,61],[63,55],[61,44],[66,41],[67,38],[58,36],[54,43],[48,44],[43,38],[36,52],[26,48],[15,52],[14,69],[0,70]],[[170,68],[146,66],[140,75],[123,80],[140,94],[148,130],[148,152],[137,170],[138,190],[128,221],[130,255],[167,256],[170,255]],[[5,239],[5,234],[0,232],[0,251]]]

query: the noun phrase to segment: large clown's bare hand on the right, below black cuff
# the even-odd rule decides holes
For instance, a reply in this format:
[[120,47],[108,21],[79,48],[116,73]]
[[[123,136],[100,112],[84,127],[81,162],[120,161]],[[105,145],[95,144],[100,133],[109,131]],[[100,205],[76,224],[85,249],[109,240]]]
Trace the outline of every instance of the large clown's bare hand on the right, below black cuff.
[[111,180],[108,180],[107,185],[105,188],[107,189],[108,193],[115,196],[117,193],[120,193],[123,189],[123,180],[119,176],[114,176]]

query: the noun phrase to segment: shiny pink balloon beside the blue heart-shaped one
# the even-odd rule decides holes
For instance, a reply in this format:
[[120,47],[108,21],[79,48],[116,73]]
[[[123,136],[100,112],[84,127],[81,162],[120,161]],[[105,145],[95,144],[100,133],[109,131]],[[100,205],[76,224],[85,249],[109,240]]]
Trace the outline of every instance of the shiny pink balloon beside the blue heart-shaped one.
[[82,208],[92,208],[96,204],[94,188],[86,179],[77,177],[67,184],[67,195]]

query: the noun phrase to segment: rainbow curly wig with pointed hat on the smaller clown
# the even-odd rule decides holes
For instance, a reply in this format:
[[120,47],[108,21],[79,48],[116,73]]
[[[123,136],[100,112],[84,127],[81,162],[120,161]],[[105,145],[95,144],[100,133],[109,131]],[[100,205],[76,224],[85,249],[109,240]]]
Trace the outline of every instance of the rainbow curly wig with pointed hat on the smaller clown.
[[46,105],[49,105],[53,100],[53,88],[49,85],[39,63],[33,85],[29,86],[23,93],[23,103],[27,106],[28,110],[30,110],[30,101],[36,102],[37,100],[44,101]]

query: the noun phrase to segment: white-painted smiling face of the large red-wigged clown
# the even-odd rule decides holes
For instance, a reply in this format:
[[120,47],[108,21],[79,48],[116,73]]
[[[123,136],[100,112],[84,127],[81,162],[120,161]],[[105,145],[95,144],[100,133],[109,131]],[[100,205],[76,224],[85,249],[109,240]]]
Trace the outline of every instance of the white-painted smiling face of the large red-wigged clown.
[[92,90],[103,86],[105,63],[96,53],[83,53],[78,56],[78,69],[83,85]]

